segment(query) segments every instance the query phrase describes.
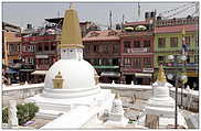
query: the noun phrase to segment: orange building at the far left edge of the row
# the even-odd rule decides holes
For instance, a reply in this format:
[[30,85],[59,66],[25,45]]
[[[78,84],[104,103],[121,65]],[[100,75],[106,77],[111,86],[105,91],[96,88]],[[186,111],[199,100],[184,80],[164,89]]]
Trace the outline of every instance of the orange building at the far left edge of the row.
[[[7,84],[19,81],[19,53],[20,53],[20,31],[19,26],[2,23],[2,73]],[[8,81],[9,80],[9,81]]]

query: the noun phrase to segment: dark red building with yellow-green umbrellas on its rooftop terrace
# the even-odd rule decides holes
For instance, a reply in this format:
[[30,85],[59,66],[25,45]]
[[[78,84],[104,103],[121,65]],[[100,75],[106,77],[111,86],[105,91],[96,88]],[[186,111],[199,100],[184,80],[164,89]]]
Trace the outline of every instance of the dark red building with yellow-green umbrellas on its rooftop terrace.
[[[147,17],[147,13],[151,15]],[[154,75],[154,17],[146,21],[126,22],[120,33],[120,73],[126,84],[150,84]]]

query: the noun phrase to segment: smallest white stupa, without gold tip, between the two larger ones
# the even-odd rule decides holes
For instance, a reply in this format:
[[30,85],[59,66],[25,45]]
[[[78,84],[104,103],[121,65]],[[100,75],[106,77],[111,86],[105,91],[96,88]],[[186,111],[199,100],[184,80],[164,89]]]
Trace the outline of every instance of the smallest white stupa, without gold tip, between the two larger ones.
[[115,100],[113,101],[112,111],[108,114],[108,119],[105,122],[106,125],[123,128],[128,123],[128,119],[125,118],[123,109],[123,101],[120,100],[119,94],[116,94]]

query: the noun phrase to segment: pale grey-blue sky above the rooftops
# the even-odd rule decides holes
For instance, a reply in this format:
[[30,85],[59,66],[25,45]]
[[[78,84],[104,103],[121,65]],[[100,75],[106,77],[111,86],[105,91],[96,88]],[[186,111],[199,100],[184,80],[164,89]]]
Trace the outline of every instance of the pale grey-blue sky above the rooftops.
[[[183,4],[193,6],[187,2],[140,2],[140,17],[138,17],[137,2],[110,2],[110,3],[93,3],[93,2],[75,2],[74,7],[78,12],[80,21],[93,21],[98,25],[109,25],[109,11],[112,11],[113,25],[123,21],[140,21],[145,18],[146,11],[157,10],[157,14],[182,7]],[[187,8],[184,7],[184,8]],[[18,26],[25,28],[28,23],[33,26],[44,25],[44,19],[63,17],[66,9],[70,8],[68,2],[2,2],[2,21]],[[181,8],[184,9],[184,8]],[[174,18],[186,18],[192,14],[195,8],[181,11],[182,13]],[[179,11],[179,10],[178,10]],[[163,17],[176,13],[162,13]]]

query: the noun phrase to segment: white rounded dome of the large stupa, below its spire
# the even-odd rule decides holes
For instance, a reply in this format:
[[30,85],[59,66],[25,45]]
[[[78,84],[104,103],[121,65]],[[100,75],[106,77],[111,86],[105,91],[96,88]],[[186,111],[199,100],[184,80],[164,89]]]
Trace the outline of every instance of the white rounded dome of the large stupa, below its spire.
[[[54,87],[53,79],[61,73],[62,88]],[[86,61],[60,59],[54,63],[44,79],[45,97],[80,97],[98,92],[94,67]],[[77,96],[78,95],[78,96]]]

